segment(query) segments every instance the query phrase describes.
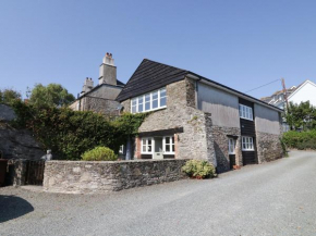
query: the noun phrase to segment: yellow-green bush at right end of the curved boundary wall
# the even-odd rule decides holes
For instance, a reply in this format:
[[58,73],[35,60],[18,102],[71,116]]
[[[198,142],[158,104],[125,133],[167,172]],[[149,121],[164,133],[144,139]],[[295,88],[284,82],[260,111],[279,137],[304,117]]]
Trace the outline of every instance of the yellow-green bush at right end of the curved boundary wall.
[[182,171],[190,177],[206,178],[215,177],[216,170],[212,164],[202,160],[190,160],[182,166]]

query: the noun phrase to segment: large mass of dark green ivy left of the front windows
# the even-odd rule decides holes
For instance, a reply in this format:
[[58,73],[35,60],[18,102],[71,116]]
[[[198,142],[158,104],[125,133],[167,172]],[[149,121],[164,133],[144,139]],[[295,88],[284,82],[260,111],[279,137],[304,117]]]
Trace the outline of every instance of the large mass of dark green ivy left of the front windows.
[[78,160],[95,147],[109,147],[116,152],[127,138],[137,135],[138,127],[148,113],[124,113],[114,121],[90,111],[68,108],[37,110],[21,101],[12,104],[17,119],[13,126],[27,128],[46,149],[58,159]]

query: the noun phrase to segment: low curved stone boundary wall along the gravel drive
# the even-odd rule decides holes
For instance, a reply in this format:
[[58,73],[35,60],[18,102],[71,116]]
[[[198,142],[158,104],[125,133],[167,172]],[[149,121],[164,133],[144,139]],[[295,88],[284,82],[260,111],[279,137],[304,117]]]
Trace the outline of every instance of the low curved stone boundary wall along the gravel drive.
[[173,182],[186,177],[181,171],[186,161],[47,161],[44,189],[50,192],[93,194]]

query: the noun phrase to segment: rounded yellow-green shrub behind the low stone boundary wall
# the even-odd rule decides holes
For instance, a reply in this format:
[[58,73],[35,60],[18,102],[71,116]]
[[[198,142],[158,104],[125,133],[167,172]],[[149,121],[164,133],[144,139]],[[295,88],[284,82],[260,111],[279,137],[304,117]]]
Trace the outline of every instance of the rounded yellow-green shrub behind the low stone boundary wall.
[[118,156],[107,147],[96,147],[82,156],[83,161],[116,161]]

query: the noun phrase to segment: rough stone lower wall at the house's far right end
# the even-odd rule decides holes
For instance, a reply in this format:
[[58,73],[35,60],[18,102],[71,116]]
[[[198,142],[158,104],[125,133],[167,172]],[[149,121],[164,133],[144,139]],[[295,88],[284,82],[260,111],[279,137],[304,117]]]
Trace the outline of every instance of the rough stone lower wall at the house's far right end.
[[269,162],[283,157],[279,135],[256,133],[258,162]]

